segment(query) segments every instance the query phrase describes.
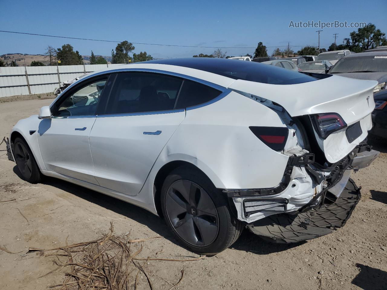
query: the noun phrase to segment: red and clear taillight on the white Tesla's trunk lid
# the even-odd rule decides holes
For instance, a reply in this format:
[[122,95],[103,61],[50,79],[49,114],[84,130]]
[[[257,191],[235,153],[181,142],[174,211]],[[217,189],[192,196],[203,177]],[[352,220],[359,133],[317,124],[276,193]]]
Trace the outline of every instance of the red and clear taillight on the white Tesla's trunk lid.
[[317,114],[312,115],[311,118],[317,132],[323,139],[347,126],[347,123],[337,113]]

